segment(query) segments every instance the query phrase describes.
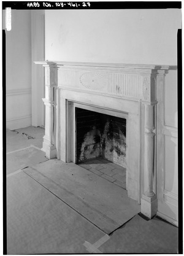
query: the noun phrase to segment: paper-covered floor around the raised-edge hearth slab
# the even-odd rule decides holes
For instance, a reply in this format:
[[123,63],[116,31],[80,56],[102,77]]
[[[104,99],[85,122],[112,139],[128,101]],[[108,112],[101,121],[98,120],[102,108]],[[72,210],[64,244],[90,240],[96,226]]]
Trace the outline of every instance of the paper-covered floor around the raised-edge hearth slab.
[[[41,165],[48,162],[40,150],[43,136],[44,130],[34,127],[7,131],[8,254],[177,253],[177,227],[156,217],[147,221],[136,215],[107,235],[28,176],[27,166],[33,168],[40,162]],[[96,174],[93,176],[107,181]]]

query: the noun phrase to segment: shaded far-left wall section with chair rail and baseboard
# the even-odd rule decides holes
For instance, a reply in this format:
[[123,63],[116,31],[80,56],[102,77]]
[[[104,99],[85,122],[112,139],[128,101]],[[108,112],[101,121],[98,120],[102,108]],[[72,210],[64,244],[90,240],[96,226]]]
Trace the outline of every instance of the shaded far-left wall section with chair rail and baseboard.
[[7,128],[31,125],[31,12],[12,10],[6,31]]

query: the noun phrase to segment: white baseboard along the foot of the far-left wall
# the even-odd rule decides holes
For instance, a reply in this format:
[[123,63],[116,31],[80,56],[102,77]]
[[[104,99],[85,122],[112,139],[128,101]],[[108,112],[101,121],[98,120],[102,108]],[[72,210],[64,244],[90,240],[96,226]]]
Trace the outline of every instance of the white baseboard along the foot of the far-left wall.
[[31,126],[31,123],[32,123],[31,115],[28,115],[26,117],[6,120],[6,128],[8,128],[9,130],[15,130],[18,128]]

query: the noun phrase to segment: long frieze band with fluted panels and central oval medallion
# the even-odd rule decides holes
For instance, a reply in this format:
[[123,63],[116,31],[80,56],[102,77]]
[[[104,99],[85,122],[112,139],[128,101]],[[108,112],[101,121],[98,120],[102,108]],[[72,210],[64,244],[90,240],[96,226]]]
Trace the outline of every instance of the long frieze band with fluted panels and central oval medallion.
[[81,90],[101,91],[109,95],[142,98],[142,76],[139,74],[59,69],[58,85]]

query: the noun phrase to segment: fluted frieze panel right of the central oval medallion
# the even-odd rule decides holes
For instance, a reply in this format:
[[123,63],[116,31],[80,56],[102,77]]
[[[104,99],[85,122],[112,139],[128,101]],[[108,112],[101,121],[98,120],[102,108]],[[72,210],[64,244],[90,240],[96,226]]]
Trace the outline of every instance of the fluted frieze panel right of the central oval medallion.
[[142,77],[137,74],[108,74],[108,92],[110,94],[142,98]]

